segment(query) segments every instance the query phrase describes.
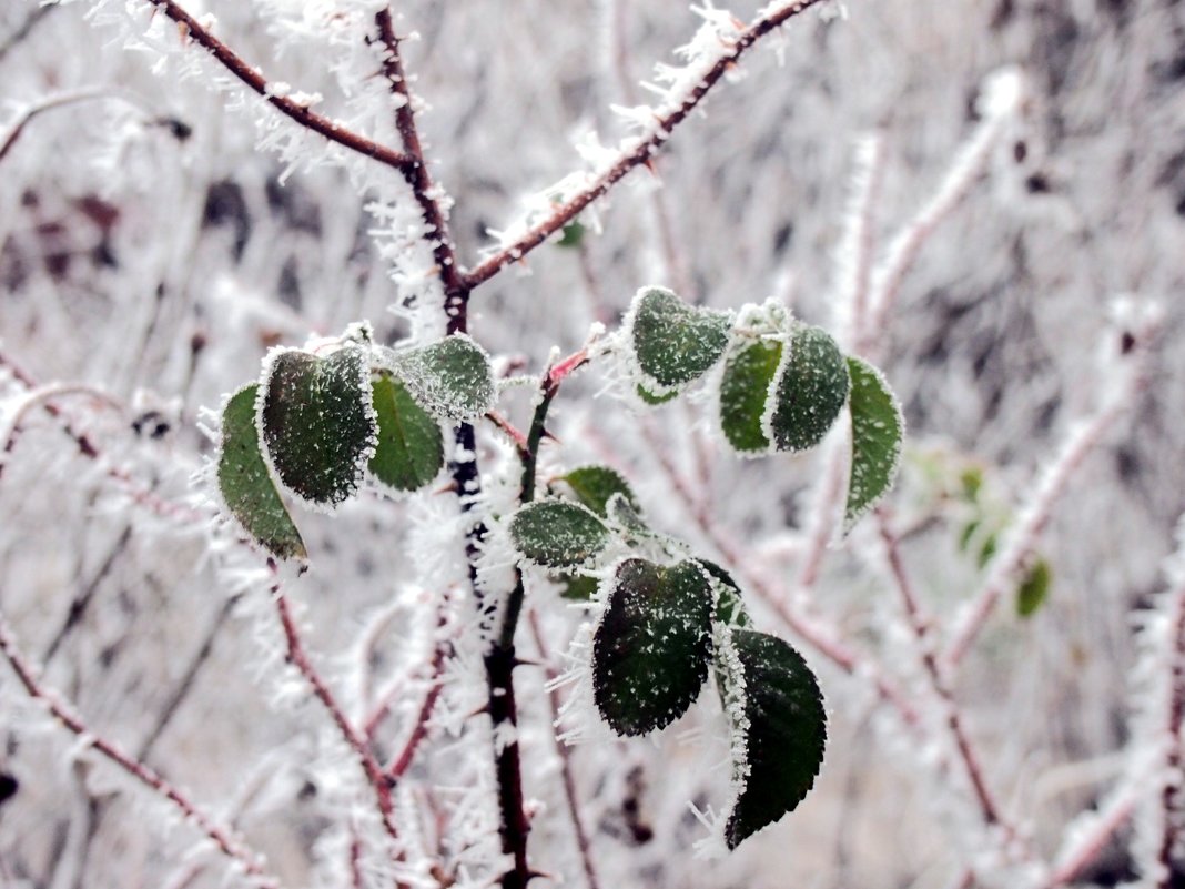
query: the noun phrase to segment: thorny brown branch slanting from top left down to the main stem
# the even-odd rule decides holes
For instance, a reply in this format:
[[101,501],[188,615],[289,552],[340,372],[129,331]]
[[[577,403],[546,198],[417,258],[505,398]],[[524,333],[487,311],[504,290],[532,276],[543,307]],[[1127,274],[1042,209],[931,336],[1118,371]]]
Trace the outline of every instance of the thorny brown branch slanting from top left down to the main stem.
[[268,104],[287,117],[296,121],[305,129],[318,133],[331,142],[348,148],[352,152],[373,158],[379,164],[405,173],[415,164],[411,155],[404,152],[396,152],[386,146],[379,145],[372,139],[346,129],[337,121],[325,117],[307,105],[295,102],[287,96],[275,95],[267,78],[263,77],[251,65],[249,65],[237,52],[224,44],[201,24],[190,15],[174,0],[145,0],[164,12],[169,19],[175,21],[181,30],[182,38],[190,38],[201,46],[206,52],[217,59],[223,68],[230,71],[243,84],[264,98]]

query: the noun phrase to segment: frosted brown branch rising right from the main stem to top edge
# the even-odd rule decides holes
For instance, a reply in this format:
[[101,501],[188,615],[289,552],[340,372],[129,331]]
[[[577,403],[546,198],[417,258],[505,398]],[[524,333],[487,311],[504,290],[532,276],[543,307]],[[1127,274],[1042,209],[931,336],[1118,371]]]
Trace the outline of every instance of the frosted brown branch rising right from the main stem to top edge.
[[467,288],[473,289],[474,287],[478,287],[479,284],[482,284],[492,279],[510,263],[518,262],[544,243],[549,237],[568,225],[568,223],[575,219],[589,204],[597,198],[603,197],[630,171],[647,164],[649,159],[666,145],[667,140],[671,139],[671,134],[674,128],[687,119],[687,116],[709,94],[712,87],[715,87],[724,77],[724,75],[728,73],[728,71],[736,64],[737,59],[739,59],[755,43],[757,43],[757,40],[771,31],[775,31],[779,26],[793,17],[806,12],[812,6],[820,2],[822,2],[822,0],[798,0],[796,2],[789,4],[777,12],[757,19],[755,23],[749,25],[749,27],[742,31],[736,38],[736,41],[732,44],[732,49],[722,56],[716,64],[707,70],[704,78],[694,87],[694,89],[691,90],[679,107],[655,120],[653,133],[642,139],[636,146],[626,151],[621,158],[619,158],[617,161],[609,167],[609,170],[597,177],[597,179],[587,188],[561,204],[556,209],[556,212],[553,212],[550,217],[532,228],[513,244],[502,248],[497,254],[463,274],[461,276],[462,283]]

